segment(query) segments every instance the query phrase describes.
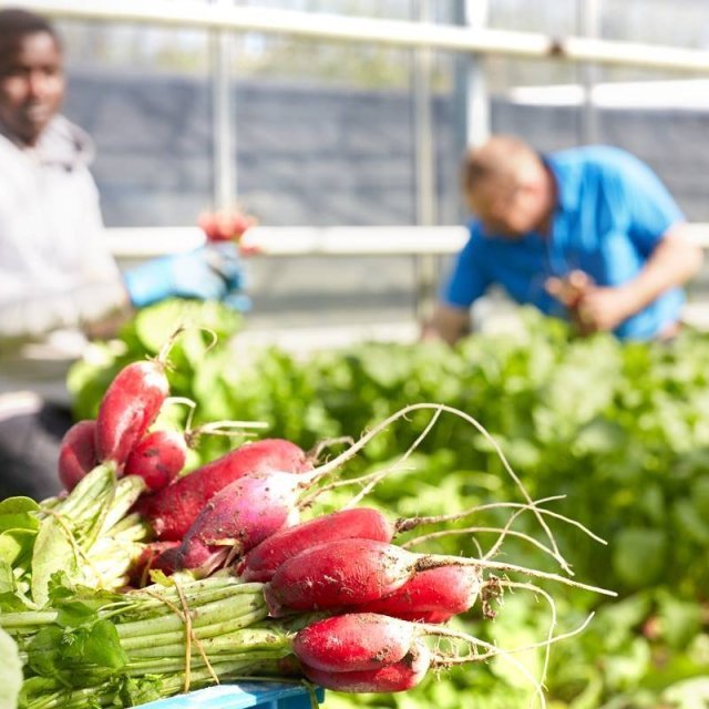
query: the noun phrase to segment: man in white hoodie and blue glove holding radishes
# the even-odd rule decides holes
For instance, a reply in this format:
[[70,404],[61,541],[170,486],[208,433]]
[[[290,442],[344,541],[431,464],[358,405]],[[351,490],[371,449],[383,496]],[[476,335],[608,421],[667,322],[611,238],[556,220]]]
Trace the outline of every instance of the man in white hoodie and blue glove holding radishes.
[[55,494],[71,425],[65,374],[106,321],[164,298],[228,300],[236,249],[150,260],[122,274],[109,249],[90,137],[60,114],[60,37],[0,10],[0,499]]

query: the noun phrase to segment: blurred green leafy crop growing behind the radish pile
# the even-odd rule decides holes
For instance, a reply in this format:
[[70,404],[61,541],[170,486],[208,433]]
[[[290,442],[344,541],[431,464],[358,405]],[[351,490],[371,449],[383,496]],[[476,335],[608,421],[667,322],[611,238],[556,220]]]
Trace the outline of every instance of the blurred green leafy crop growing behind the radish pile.
[[[209,349],[209,336],[191,330],[173,352],[173,393],[196,401],[197,421],[266,421],[264,435],[310,448],[358,438],[411,403],[445,403],[490,431],[533,497],[564,495],[548,508],[608,542],[553,525],[576,578],[619,594],[612,600],[545,585],[558,604],[557,633],[595,610],[584,633],[552,651],[546,696],[553,709],[709,707],[708,336],[688,330],[667,345],[574,339],[563,323],[526,312],[518,331],[476,335],[454,349],[363,343],[299,360],[276,348],[246,349],[238,335],[228,337],[238,321],[218,307],[165,304],[140,314],[120,348],[106,345],[100,358],[94,352],[93,361],[74,368],[76,417],[94,417],[115,371],[155,353],[184,319],[219,336]],[[175,407],[174,415],[184,419],[185,409]],[[415,412],[394,423],[348,472],[395,461],[430,418]],[[205,438],[192,464],[234,444]],[[414,471],[392,474],[368,500],[395,515],[522,501],[491,444],[452,415],[441,417],[412,461]],[[492,512],[474,523],[505,518]],[[525,520],[520,528],[538,536]],[[464,540],[452,536],[436,551],[474,553]],[[506,544],[504,561],[558,571],[523,542]],[[507,594],[492,621],[477,613],[460,619],[461,627],[503,647],[540,640],[548,629],[548,608],[528,593]],[[540,653],[520,657],[538,670]],[[353,700],[329,692],[326,707],[515,709],[528,706],[531,692],[518,668],[500,659],[432,676],[402,695]]]

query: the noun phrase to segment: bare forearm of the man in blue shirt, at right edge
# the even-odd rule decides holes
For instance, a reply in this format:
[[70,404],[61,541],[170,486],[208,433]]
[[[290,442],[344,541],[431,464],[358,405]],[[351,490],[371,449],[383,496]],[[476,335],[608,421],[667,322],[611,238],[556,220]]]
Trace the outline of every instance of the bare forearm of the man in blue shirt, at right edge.
[[672,226],[657,244],[633,280],[616,287],[590,286],[577,304],[579,320],[588,331],[613,330],[701,268],[703,254],[688,235],[686,224]]

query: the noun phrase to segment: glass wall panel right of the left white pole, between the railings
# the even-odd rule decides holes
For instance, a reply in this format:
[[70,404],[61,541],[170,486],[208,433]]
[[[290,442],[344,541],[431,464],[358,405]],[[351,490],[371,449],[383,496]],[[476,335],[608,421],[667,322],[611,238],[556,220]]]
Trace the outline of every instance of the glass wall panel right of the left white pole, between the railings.
[[[408,52],[237,39],[239,201],[271,225],[415,218]],[[250,48],[250,49],[249,49]]]

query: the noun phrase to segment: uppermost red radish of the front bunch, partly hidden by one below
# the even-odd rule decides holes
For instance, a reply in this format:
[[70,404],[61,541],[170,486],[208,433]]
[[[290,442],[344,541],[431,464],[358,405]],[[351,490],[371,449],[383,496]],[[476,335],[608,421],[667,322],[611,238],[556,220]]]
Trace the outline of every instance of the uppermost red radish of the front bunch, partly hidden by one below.
[[395,524],[372,507],[325,514],[280,530],[261,542],[246,555],[240,576],[245,582],[267,582],[285,561],[318,544],[343,538],[391,542],[395,531]]

